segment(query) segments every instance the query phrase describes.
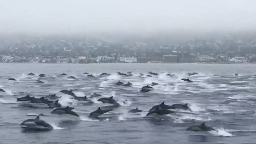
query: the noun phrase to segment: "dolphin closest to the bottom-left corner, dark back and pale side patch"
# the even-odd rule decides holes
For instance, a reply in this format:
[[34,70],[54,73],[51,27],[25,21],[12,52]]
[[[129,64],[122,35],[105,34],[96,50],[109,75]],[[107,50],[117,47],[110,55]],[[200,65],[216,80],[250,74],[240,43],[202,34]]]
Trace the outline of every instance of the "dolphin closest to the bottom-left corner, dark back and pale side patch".
[[25,131],[49,131],[52,130],[53,127],[41,120],[39,116],[35,119],[27,119],[20,124],[20,127]]

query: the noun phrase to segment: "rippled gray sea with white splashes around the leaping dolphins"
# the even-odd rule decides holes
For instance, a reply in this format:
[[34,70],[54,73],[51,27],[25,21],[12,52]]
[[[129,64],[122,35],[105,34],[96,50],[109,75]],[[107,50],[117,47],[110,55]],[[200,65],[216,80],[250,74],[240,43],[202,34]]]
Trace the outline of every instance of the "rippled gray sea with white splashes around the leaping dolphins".
[[[255,143],[255,64],[6,64],[0,63],[0,143]],[[83,75],[89,72],[96,78]],[[119,76],[116,72],[133,76]],[[160,75],[140,76],[149,71]],[[33,72],[36,76],[28,76]],[[66,76],[60,76],[61,73]],[[110,76],[100,77],[103,72]],[[187,72],[198,75],[187,76]],[[38,75],[44,84],[36,83]],[[166,76],[175,74],[174,77]],[[234,73],[238,73],[235,76]],[[77,77],[76,80],[68,76]],[[13,77],[18,81],[8,81]],[[192,83],[181,78],[189,77]],[[132,87],[116,86],[117,81],[133,83]],[[139,93],[142,86],[157,82],[154,90]],[[89,113],[100,106],[79,103],[71,96],[60,93],[63,89],[74,89],[77,96],[99,93],[104,97],[114,96],[120,107],[102,117],[102,121],[91,119]],[[71,115],[53,115],[45,105],[34,108],[22,106],[16,98],[29,94],[35,97],[54,94],[62,96],[63,106],[73,106],[80,118]],[[124,104],[122,101],[126,101]],[[148,111],[153,105],[165,101],[166,104],[189,103],[192,113],[177,113],[161,118],[144,118],[147,112],[131,114],[127,111],[138,107]],[[176,110],[176,109],[175,109]],[[185,110],[176,110],[188,112]],[[41,119],[54,127],[48,132],[22,132],[19,124],[31,113],[43,113]],[[205,122],[218,132],[186,131],[187,127]]]

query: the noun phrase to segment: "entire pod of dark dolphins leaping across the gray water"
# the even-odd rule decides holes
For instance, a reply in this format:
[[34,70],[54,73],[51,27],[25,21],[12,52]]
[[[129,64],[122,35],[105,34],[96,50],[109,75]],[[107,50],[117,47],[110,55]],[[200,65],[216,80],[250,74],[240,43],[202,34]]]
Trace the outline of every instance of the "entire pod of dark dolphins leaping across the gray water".
[[[88,73],[84,73],[84,74],[88,74]],[[127,73],[121,73],[118,72],[119,75],[122,76],[132,76],[133,73],[132,72],[127,72]],[[196,75],[197,73],[189,73],[188,75]],[[29,73],[28,75],[33,75],[33,73]],[[65,73],[62,73],[60,75],[67,75]],[[100,76],[106,76],[106,75],[110,75],[108,73],[102,73],[100,74]],[[140,74],[141,76],[143,74]],[[152,77],[152,75],[156,76],[159,75],[158,73],[154,73],[154,72],[149,72],[148,76]],[[174,74],[166,74],[167,76],[173,76]],[[238,75],[238,74],[237,74]],[[40,74],[39,77],[45,77],[45,74]],[[92,74],[87,75],[88,77],[94,77]],[[74,76],[69,76],[68,78],[71,79],[76,79]],[[13,79],[13,78],[10,78]],[[183,81],[187,81],[187,82],[192,82],[189,79],[182,79]],[[37,80],[39,82],[39,80]],[[114,84],[114,83],[113,83]],[[124,84],[124,82],[121,81],[117,81],[115,83],[116,85],[121,85],[121,86],[131,86],[132,83],[128,82],[126,84]],[[141,88],[140,92],[149,92],[152,91],[154,88],[152,86],[154,85],[158,85],[158,83],[152,82],[149,85],[143,86]],[[0,92],[5,92],[3,89],[0,89]],[[72,96],[75,100],[78,101],[88,101],[88,102],[92,102],[91,100],[88,99],[87,96],[84,97],[78,97],[77,95],[74,94],[74,92],[72,90],[61,90],[61,93],[64,94],[68,94],[70,96]],[[97,93],[92,93],[90,95],[89,98],[94,98],[94,97],[101,97],[100,94]],[[72,111],[74,108],[73,107],[62,107],[62,105],[59,103],[59,96],[57,96],[56,94],[52,94],[52,95],[48,95],[45,97],[40,97],[40,98],[35,98],[35,97],[31,97],[29,95],[26,95],[24,97],[20,97],[17,98],[17,101],[29,101],[30,103],[44,103],[47,104],[49,106],[49,108],[54,108],[50,113],[51,114],[57,114],[57,115],[63,115],[63,114],[67,114],[67,115],[73,115],[76,117],[79,117],[79,115]],[[92,111],[91,113],[89,113],[89,117],[91,118],[96,118],[99,119],[101,115],[103,115],[104,113],[107,113],[109,111],[113,111],[114,108],[120,106],[118,104],[118,102],[113,99],[112,97],[103,97],[103,98],[99,98],[97,101],[100,101],[102,103],[107,103],[107,104],[112,104],[112,106],[106,106],[106,107],[98,107],[98,109],[96,109],[95,111]],[[123,101],[123,103],[125,104],[126,101]],[[168,115],[171,113],[176,113],[175,111],[172,111],[170,109],[182,109],[182,110],[188,110],[191,111],[192,110],[189,108],[188,104],[172,104],[172,105],[166,105],[164,102],[162,102],[161,104],[155,105],[153,106],[148,113],[146,114],[147,117],[159,117],[162,115]],[[138,107],[136,107],[135,109],[130,109],[128,111],[129,113],[139,113],[139,112],[143,112],[143,110],[138,109]],[[25,121],[23,121],[20,124],[22,129],[26,129],[26,130],[51,130],[53,129],[51,127],[50,124],[46,123],[45,121],[39,119],[39,116],[35,119],[27,119]],[[208,127],[205,125],[205,123],[202,123],[200,125],[192,125],[190,127],[188,127],[186,130],[190,130],[190,131],[211,131],[211,130],[215,130],[214,128]]]

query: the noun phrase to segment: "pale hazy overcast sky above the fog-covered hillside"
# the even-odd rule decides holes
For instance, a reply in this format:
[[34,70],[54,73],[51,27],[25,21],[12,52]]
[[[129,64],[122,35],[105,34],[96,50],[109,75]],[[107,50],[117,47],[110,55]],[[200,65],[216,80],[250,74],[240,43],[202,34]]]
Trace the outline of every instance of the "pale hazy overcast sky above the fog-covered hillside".
[[0,33],[255,30],[254,0],[1,0]]

